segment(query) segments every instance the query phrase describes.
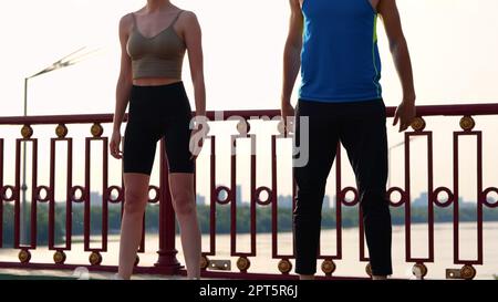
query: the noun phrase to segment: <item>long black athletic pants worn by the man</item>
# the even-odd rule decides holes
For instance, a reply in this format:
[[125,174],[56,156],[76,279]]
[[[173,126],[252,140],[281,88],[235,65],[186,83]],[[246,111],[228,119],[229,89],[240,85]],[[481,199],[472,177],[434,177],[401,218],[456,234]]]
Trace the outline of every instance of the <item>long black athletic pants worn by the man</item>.
[[[356,177],[372,272],[374,275],[392,274],[384,102],[331,104],[300,100],[295,116],[295,146],[300,146],[300,140],[305,142],[301,137],[305,135],[300,127],[302,116],[309,117],[309,162],[305,166],[294,167],[298,186],[293,215],[295,272],[317,272],[325,183],[341,142]],[[299,156],[294,154],[294,159]]]

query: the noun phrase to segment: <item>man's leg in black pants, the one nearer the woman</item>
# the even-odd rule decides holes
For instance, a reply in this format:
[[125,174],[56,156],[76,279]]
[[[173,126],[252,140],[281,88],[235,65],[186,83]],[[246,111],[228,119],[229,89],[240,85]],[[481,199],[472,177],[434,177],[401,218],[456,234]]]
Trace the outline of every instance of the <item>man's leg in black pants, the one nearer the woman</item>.
[[[308,116],[309,133],[301,131],[300,118]],[[297,207],[293,214],[295,272],[301,279],[312,279],[317,272],[317,256],[323,196],[339,143],[338,128],[330,104],[300,101],[295,118],[294,145],[301,149],[308,140],[308,164],[294,167],[298,186]],[[308,135],[309,139],[303,139]],[[302,142],[302,144],[301,144]],[[299,155],[294,155],[294,158]]]

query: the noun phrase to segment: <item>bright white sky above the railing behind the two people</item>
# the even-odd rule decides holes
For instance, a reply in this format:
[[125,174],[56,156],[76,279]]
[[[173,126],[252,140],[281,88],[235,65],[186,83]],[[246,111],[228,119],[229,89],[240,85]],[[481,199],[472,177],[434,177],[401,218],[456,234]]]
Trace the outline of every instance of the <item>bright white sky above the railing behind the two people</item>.
[[[101,51],[77,66],[32,80],[29,113],[112,113],[120,60],[117,23],[145,2],[2,1],[0,116],[22,115],[23,79],[81,46]],[[418,104],[497,102],[498,1],[397,2],[412,52]],[[174,3],[195,11],[203,25],[208,110],[278,108],[288,1]],[[384,97],[394,106],[400,101],[400,84],[384,31],[380,28],[378,32]],[[184,80],[193,95],[187,66]]]

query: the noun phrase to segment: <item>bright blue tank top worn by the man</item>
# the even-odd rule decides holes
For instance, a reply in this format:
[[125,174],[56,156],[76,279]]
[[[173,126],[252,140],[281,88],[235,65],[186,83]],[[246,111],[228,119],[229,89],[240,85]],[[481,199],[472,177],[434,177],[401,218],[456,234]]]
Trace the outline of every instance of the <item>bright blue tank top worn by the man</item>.
[[382,97],[377,13],[369,0],[304,0],[303,101],[345,103]]

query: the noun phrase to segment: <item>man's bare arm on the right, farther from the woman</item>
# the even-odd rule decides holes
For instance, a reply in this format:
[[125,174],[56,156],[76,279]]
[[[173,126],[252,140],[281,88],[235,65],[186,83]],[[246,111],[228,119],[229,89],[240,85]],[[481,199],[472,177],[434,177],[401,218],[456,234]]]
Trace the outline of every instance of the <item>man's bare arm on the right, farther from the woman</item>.
[[408,45],[403,33],[396,0],[381,0],[377,10],[384,21],[394,65],[403,86],[403,102],[397,107],[393,125],[400,122],[400,132],[404,132],[409,127],[416,115],[416,95]]

